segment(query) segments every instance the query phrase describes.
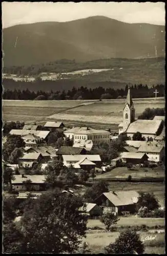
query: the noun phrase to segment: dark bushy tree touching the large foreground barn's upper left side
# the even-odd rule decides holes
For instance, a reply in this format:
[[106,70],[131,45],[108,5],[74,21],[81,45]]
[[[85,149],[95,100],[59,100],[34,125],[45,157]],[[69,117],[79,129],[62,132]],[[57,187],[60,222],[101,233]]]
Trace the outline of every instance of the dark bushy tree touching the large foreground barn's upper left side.
[[96,198],[98,198],[102,193],[108,192],[108,183],[105,181],[99,181],[92,185],[92,187],[87,188],[83,197],[87,202],[93,203]]

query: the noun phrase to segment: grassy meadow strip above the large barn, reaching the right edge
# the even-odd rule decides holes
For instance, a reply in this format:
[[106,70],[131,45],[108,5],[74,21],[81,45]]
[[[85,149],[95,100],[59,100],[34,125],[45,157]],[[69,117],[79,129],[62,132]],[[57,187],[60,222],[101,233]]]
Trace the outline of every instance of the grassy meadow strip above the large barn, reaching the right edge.
[[164,177],[164,170],[161,167],[155,167],[155,168],[144,168],[144,167],[132,167],[131,170],[129,170],[126,166],[125,167],[116,167],[111,172],[107,172],[105,174],[100,174],[95,177],[95,179],[110,179],[110,178],[128,178],[128,176],[131,175],[132,178],[147,178],[147,177],[153,177],[153,178],[160,178]]

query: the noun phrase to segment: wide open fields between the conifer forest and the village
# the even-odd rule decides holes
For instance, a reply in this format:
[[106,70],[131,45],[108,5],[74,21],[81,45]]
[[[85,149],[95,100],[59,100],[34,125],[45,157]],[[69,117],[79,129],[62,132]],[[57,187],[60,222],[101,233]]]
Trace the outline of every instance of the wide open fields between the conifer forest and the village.
[[[125,99],[114,100],[3,100],[4,121],[61,120],[80,125],[119,124]],[[164,108],[164,98],[134,99],[136,118],[145,108]],[[116,129],[116,128],[115,128]]]

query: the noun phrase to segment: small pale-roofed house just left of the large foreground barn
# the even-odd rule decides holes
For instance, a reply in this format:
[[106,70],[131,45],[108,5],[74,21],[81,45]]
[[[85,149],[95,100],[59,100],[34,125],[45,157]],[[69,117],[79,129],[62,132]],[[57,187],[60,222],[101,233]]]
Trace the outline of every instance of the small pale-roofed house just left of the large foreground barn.
[[102,215],[102,208],[93,203],[84,203],[83,206],[81,206],[78,210],[81,213],[87,214],[89,217]]

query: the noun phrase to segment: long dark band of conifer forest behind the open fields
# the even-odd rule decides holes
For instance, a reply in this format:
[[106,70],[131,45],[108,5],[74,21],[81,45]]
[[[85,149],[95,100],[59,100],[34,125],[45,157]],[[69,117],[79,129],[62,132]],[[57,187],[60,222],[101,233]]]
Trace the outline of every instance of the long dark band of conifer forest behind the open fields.
[[[10,80],[10,79],[9,79]],[[50,81],[54,83],[54,81]],[[24,82],[25,83],[25,82]],[[31,83],[31,82],[30,82]],[[45,83],[45,81],[41,81]],[[35,88],[34,84],[34,88]],[[36,87],[37,88],[37,87]],[[47,87],[46,87],[47,88]],[[157,84],[149,88],[147,84],[138,84],[131,86],[131,94],[133,98],[152,98],[155,97],[154,91],[158,90],[158,97],[165,95],[165,87],[163,84]],[[123,89],[97,87],[88,89],[87,87],[73,87],[71,90],[53,91],[45,90],[31,91],[26,90],[4,90],[3,99],[7,100],[99,100],[99,99],[121,99],[126,98],[128,93],[128,85]]]

